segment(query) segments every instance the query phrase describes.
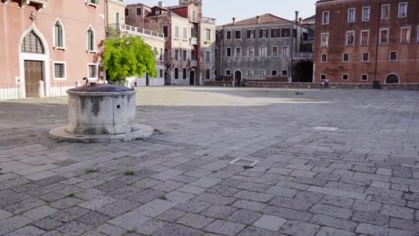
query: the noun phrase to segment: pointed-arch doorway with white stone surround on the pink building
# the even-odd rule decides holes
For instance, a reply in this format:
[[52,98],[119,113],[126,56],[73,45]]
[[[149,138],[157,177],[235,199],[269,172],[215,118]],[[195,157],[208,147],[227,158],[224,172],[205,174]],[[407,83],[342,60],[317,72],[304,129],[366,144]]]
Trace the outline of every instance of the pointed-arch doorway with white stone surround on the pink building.
[[[48,45],[36,26],[26,30],[19,43],[19,71],[25,84],[23,97],[48,96],[50,82],[50,59]],[[39,90],[39,81],[43,88]]]

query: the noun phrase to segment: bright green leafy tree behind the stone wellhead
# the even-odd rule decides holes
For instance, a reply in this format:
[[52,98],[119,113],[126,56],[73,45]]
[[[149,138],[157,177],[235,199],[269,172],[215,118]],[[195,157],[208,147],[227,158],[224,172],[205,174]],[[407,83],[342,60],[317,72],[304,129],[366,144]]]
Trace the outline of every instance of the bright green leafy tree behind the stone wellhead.
[[108,80],[123,84],[127,77],[156,77],[156,59],[152,47],[141,37],[123,35],[105,39],[103,67]]

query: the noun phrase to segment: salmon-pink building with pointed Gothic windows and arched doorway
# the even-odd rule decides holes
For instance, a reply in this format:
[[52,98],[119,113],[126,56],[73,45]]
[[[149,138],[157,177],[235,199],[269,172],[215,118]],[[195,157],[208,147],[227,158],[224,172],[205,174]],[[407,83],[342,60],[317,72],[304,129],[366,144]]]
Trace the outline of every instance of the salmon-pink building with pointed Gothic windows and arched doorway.
[[63,95],[102,78],[103,1],[2,0],[0,12],[0,99]]

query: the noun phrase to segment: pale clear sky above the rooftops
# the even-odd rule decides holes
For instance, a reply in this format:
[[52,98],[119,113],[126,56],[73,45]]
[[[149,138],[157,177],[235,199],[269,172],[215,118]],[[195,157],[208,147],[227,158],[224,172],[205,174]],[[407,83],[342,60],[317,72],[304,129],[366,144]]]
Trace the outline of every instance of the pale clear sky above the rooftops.
[[[157,5],[159,0],[125,0],[125,3],[145,3],[147,6]],[[165,6],[174,6],[178,0],[164,0]],[[300,17],[311,17],[315,11],[316,0],[203,0],[204,17],[216,19],[217,25],[237,21],[260,14],[272,13],[278,17],[294,20],[295,11]]]

